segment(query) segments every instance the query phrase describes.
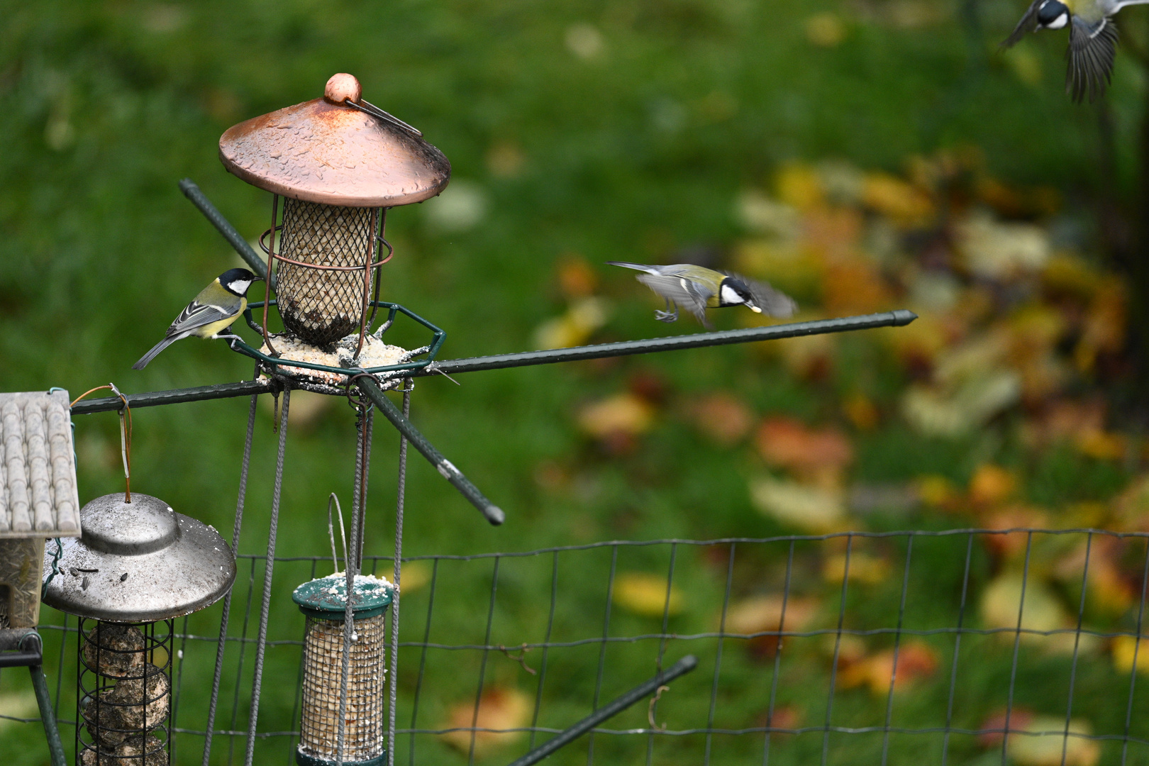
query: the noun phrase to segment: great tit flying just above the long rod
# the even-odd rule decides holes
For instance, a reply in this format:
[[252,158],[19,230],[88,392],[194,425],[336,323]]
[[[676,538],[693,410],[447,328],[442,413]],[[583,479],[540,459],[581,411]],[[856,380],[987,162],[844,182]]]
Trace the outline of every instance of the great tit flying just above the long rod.
[[664,266],[623,261],[607,261],[607,263],[643,272],[635,279],[666,301],[665,311],[654,312],[654,318],[658,322],[676,322],[678,307],[697,317],[704,327],[710,327],[710,323],[707,322],[708,308],[745,305],[755,314],[771,317],[789,317],[797,311],[797,303],[789,295],[770,285],[728,271],[715,271],[692,263],[672,263]]

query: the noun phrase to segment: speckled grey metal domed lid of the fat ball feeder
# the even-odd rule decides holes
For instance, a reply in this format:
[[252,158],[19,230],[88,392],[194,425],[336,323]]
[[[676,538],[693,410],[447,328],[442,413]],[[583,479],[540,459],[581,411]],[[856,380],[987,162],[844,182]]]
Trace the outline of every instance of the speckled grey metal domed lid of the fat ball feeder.
[[103,495],[79,511],[84,534],[44,550],[44,603],[108,622],[153,622],[214,603],[236,579],[236,559],[211,527],[151,495]]

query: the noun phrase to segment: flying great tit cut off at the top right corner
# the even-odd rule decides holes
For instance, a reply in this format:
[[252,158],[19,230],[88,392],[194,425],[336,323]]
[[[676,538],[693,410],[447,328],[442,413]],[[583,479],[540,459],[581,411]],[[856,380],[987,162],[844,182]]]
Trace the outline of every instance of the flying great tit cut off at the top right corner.
[[1072,94],[1074,101],[1081,101],[1088,93],[1092,103],[1105,93],[1113,73],[1117,55],[1117,23],[1113,16],[1125,6],[1144,2],[1149,0],[1033,0],[1002,47],[1015,45],[1026,32],[1069,26],[1065,92]]

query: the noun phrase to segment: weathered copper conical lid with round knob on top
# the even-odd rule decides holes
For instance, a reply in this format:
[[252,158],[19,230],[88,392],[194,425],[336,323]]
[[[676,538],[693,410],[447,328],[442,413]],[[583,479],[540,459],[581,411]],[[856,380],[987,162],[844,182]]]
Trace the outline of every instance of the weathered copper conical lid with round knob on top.
[[334,75],[322,99],[229,127],[219,160],[253,186],[324,204],[391,208],[447,186],[450,162],[442,152],[347,99],[365,103],[357,79]]

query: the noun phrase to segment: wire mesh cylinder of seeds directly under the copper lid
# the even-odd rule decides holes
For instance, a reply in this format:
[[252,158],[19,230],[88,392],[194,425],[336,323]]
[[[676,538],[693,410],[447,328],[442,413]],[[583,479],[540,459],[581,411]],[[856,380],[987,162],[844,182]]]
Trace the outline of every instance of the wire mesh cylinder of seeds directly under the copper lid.
[[284,326],[293,334],[330,346],[360,331],[372,288],[369,266],[378,260],[378,208],[284,199],[276,293]]

